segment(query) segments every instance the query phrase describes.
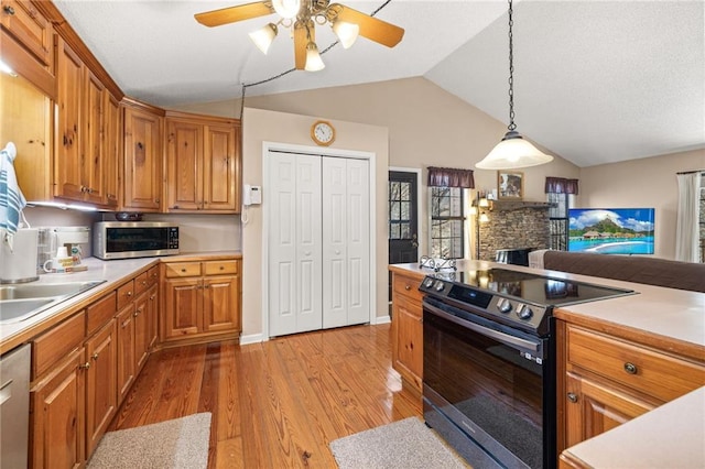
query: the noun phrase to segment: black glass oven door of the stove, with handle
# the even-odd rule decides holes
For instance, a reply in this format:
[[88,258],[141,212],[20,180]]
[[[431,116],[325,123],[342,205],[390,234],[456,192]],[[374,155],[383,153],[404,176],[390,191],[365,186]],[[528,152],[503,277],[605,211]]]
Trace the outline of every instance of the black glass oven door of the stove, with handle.
[[551,340],[426,297],[426,422],[476,467],[555,467]]

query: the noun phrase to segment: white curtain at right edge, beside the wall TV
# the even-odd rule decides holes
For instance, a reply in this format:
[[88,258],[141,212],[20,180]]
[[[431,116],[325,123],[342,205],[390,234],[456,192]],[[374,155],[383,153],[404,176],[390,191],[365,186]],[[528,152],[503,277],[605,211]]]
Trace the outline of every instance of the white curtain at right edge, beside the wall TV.
[[675,221],[675,260],[699,262],[701,173],[679,174],[679,209]]

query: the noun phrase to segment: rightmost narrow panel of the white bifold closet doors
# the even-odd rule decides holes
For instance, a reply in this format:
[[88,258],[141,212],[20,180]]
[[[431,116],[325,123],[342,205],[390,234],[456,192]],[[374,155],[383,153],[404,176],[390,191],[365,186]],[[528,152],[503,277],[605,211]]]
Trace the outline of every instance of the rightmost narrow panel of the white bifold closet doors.
[[346,162],[347,325],[370,320],[369,162]]

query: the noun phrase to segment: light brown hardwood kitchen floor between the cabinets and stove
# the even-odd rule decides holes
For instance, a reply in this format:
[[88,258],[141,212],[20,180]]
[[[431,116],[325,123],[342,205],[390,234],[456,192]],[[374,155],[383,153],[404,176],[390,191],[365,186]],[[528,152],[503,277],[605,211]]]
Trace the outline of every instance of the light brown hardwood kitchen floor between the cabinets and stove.
[[154,352],[110,429],[212,412],[209,468],[335,468],[334,439],[419,415],[390,325]]

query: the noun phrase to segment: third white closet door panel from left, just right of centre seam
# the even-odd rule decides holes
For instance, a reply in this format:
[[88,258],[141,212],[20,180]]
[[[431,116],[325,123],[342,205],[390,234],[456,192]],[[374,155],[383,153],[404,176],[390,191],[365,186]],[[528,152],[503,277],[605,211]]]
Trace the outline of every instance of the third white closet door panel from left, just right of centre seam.
[[348,324],[346,160],[323,157],[323,327]]

